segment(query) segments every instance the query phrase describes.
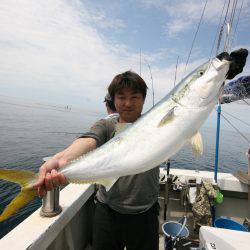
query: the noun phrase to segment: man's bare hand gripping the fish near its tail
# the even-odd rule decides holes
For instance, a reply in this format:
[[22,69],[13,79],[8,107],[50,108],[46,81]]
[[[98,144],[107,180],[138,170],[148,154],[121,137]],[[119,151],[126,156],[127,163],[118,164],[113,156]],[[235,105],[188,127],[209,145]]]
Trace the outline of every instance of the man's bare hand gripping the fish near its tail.
[[34,184],[40,197],[44,196],[47,191],[67,184],[65,176],[57,172],[58,168],[66,164],[67,162],[63,159],[50,159],[40,167],[38,180]]

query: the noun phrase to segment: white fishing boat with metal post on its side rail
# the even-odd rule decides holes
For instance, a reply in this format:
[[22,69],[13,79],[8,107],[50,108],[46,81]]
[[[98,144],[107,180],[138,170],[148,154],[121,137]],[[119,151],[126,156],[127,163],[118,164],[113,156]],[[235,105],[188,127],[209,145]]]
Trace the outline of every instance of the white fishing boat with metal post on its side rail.
[[[247,156],[248,178],[250,179],[250,152]],[[176,179],[177,177],[181,180],[178,188],[176,188],[176,182],[173,182],[173,178]],[[250,218],[249,183],[242,182],[230,173],[219,172],[217,178],[217,185],[223,193],[224,201],[222,204],[216,205],[216,217],[226,217],[243,224],[244,221],[247,221],[247,218]],[[239,241],[238,245],[243,245],[247,249],[247,243],[250,242],[250,233],[247,230],[246,232],[240,232],[202,226],[199,234],[194,232],[192,206],[188,200],[187,190],[190,187],[198,187],[202,180],[213,182],[214,172],[169,169],[167,166],[160,168],[160,228],[165,221],[175,222],[186,216],[186,227],[189,230],[189,238],[186,238],[186,244],[195,242],[200,247],[204,247],[206,244],[211,247],[204,249],[225,249],[221,246],[225,247],[229,244],[224,242],[224,235],[226,234],[231,235],[231,238],[235,237],[233,243]],[[0,240],[0,249],[91,249],[96,185],[69,184],[60,191],[59,202],[55,199],[55,192],[48,192],[47,196],[43,198],[42,208],[36,210]],[[59,214],[51,213],[51,211],[56,211],[59,206],[61,208]],[[237,235],[233,236],[235,232]],[[216,243],[216,237],[220,243]],[[162,230],[160,230],[159,239],[159,249],[164,249],[166,247],[166,235]],[[218,246],[220,244],[220,247],[215,248],[216,244]],[[237,248],[231,246],[228,249]]]

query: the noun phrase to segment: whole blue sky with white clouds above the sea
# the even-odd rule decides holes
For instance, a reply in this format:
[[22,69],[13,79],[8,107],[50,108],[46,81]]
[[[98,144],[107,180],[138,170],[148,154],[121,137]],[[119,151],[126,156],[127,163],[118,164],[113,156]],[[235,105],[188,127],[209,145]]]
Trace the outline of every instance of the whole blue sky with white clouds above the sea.
[[[146,110],[150,70],[157,102],[174,86],[177,58],[176,82],[210,57],[226,0],[208,0],[185,71],[205,2],[1,0],[0,98],[104,112],[108,84],[133,70],[149,86]],[[231,50],[250,49],[249,24],[250,0],[239,0]],[[249,72],[248,60],[242,75]]]

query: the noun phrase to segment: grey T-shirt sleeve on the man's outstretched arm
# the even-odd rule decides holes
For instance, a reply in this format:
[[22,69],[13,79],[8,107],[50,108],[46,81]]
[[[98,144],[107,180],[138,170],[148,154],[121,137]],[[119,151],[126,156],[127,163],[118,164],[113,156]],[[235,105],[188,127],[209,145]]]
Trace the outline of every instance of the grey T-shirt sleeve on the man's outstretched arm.
[[88,132],[82,134],[79,138],[94,138],[97,142],[97,147],[107,141],[107,126],[105,119],[97,121]]

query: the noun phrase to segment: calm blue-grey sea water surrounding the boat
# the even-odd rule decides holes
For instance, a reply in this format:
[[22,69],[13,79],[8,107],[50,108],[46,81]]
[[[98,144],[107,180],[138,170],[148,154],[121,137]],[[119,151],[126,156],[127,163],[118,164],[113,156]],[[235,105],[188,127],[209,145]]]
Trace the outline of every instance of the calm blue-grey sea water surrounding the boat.
[[[29,169],[37,172],[43,163],[43,157],[67,147],[102,116],[64,107],[0,102],[0,168]],[[195,158],[190,147],[185,146],[171,158],[171,167],[213,170],[215,130],[204,127],[201,133],[204,143],[203,156]],[[237,133],[221,131],[219,170],[231,173],[237,170],[246,171],[245,152],[248,147]],[[19,190],[18,185],[0,180],[0,213]],[[40,205],[41,200],[37,198],[8,220],[0,222],[0,238]]]

